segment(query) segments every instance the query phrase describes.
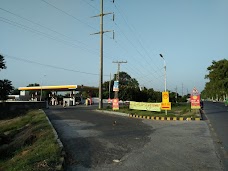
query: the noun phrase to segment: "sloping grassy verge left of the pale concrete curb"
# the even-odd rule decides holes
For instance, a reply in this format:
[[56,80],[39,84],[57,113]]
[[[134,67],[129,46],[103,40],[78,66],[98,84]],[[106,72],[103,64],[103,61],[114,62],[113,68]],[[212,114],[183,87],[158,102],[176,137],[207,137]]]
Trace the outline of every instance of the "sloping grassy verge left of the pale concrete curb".
[[0,171],[56,170],[60,153],[42,110],[0,120]]

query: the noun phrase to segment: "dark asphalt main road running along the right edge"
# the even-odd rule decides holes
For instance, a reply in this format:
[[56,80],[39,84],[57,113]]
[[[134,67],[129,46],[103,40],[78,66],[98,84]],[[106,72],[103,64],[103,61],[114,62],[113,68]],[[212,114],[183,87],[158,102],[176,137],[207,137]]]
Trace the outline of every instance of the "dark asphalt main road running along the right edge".
[[228,107],[221,102],[204,102],[204,111],[209,119],[215,141],[221,149],[224,165],[228,170]]

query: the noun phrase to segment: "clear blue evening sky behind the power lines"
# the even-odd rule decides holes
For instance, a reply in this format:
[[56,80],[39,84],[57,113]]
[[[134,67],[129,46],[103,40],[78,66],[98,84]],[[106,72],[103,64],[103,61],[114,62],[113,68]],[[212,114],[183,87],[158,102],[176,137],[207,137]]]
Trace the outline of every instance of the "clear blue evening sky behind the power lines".
[[[104,16],[103,81],[127,61],[120,71],[163,91],[165,62],[168,90],[202,91],[207,67],[228,59],[227,9],[227,0],[104,0],[114,21]],[[0,79],[98,87],[99,14],[100,0],[0,0]]]

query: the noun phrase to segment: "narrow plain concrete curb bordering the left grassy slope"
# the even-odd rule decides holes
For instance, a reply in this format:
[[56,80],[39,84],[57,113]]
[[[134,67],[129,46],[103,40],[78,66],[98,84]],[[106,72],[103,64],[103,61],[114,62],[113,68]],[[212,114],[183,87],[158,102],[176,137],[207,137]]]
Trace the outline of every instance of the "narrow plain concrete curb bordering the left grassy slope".
[[[44,112],[44,111],[43,111],[43,112]],[[44,113],[45,113],[45,112],[44,112]],[[45,115],[46,115],[46,114],[45,114]],[[47,119],[49,125],[50,125],[51,128],[52,128],[52,131],[53,131],[53,133],[54,133],[54,135],[55,135],[55,139],[56,139],[57,143],[59,144],[59,148],[60,148],[60,150],[61,150],[61,157],[60,157],[60,159],[59,159],[59,165],[56,166],[55,170],[56,170],[56,171],[64,170],[64,164],[65,164],[65,156],[66,156],[66,153],[65,153],[65,150],[64,150],[64,147],[63,147],[63,143],[62,143],[62,141],[59,139],[59,136],[58,136],[58,134],[57,134],[55,128],[53,127],[52,123],[50,122],[49,118],[47,117],[47,115],[46,115],[46,119]]]

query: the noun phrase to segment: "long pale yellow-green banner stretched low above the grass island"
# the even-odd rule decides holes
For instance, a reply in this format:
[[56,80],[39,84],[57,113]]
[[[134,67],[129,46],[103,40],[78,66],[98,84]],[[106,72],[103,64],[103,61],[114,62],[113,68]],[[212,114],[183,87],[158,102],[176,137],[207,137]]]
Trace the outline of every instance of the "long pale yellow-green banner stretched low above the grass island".
[[148,110],[148,111],[161,111],[161,103],[146,103],[146,102],[134,102],[130,101],[130,109],[135,110]]

